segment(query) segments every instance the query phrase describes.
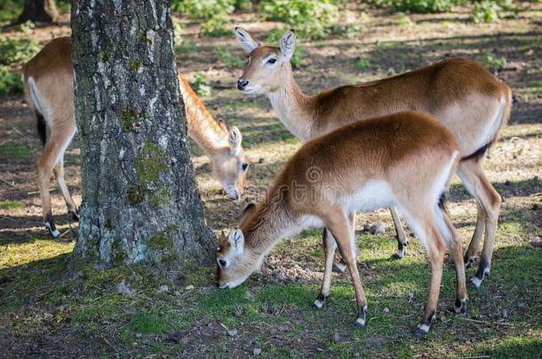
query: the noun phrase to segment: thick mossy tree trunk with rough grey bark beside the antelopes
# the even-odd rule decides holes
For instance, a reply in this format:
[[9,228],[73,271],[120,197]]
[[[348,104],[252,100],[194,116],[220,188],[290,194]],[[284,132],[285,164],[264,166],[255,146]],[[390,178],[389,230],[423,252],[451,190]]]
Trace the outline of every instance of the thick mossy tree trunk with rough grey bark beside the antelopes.
[[83,203],[76,258],[209,263],[167,0],[72,2]]

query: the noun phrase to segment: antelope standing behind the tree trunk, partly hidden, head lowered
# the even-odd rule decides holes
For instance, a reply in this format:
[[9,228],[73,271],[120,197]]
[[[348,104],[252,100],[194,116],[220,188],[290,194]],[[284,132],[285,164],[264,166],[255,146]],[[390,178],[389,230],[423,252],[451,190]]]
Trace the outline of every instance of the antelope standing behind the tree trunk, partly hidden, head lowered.
[[[241,132],[236,127],[228,130],[224,121],[214,121],[185,77],[180,72],[178,77],[185,102],[188,136],[210,158],[214,176],[227,195],[239,199],[249,167],[241,144]],[[25,100],[36,116],[38,133],[44,144],[43,154],[36,163],[44,225],[52,237],[57,238],[60,232],[52,219],[49,194],[52,172],[66,200],[68,214],[78,220],[76,204],[64,180],[64,153],[76,134],[70,38],[59,37],[47,43],[23,66],[22,80]]]

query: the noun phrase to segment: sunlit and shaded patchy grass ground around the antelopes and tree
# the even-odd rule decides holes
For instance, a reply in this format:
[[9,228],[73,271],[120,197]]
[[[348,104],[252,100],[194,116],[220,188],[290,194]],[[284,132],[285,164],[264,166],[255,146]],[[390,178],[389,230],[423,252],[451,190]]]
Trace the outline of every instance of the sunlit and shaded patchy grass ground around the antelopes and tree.
[[[70,253],[76,224],[61,215],[66,208],[59,192],[52,192],[53,214],[60,231],[73,230],[52,239],[42,228],[34,165],[41,144],[28,124],[30,113],[20,98],[0,99],[0,173],[7,182],[0,182],[0,347],[8,356],[239,357],[260,348],[263,357],[540,357],[542,249],[531,243],[542,228],[542,10],[529,4],[530,9],[499,24],[476,26],[461,9],[408,16],[369,12],[363,16],[366,30],[353,37],[308,41],[299,36],[303,61],[294,75],[310,94],[450,56],[483,61],[490,53],[506,59],[506,65],[497,64],[502,65],[498,76],[513,89],[513,114],[485,160],[504,201],[491,276],[480,290],[469,290],[466,316],[446,312],[455,287],[447,257],[432,331],[423,338],[410,334],[426,301],[429,268],[424,247],[413,238],[403,260],[391,258],[395,231],[384,210],[359,215],[357,221],[357,261],[369,301],[363,330],[353,327],[354,291],[347,273],[333,274],[331,296],[321,310],[311,307],[323,272],[320,230],[283,240],[261,272],[234,290],[218,290],[211,268],[180,273],[140,266],[74,268]],[[272,45],[283,33],[250,13],[234,17]],[[202,38],[197,35],[201,21],[177,20],[184,42],[178,44],[179,68],[206,95],[211,113],[243,132],[243,146],[254,162],[244,200],[257,200],[299,140],[275,120],[267,98],[235,90],[241,74],[237,59],[243,54],[233,36]],[[61,25],[36,28],[33,36],[44,42],[50,30],[69,32]],[[209,160],[199,149],[192,153],[209,225],[215,230],[235,226],[246,203],[226,199],[211,177]],[[76,149],[68,151],[66,177],[79,201],[77,155]],[[449,197],[450,215],[466,249],[476,206],[458,178]],[[366,221],[384,222],[387,230],[371,236],[362,230]],[[474,270],[468,269],[467,277]]]

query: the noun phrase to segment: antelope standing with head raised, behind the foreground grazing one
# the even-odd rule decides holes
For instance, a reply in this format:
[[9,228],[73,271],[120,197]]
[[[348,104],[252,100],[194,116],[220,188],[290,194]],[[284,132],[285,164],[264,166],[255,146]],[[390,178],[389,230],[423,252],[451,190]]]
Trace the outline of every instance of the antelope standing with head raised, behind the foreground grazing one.
[[[241,27],[235,36],[247,55],[237,89],[265,94],[284,126],[302,141],[353,121],[400,111],[422,111],[450,129],[461,158],[457,173],[476,199],[478,217],[466,250],[467,268],[474,264],[485,231],[482,257],[471,285],[478,288],[490,274],[491,255],[501,198],[483,172],[482,160],[510,116],[511,92],[506,84],[471,59],[445,59],[387,79],[323,90],[307,96],[293,78],[290,59],[295,34],[287,31],[280,47],[264,46]],[[390,211],[397,231],[396,256],[405,254],[407,238],[395,207]],[[324,230],[324,236],[326,236]],[[339,271],[344,270],[342,262]]]

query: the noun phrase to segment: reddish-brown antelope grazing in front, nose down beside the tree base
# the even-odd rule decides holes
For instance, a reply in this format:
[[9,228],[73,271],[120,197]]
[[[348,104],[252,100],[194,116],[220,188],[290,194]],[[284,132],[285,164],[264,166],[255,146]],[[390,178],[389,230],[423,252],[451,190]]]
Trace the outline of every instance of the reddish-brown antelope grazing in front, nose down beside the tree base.
[[358,121],[307,142],[286,162],[259,206],[247,207],[240,229],[220,238],[219,287],[242,284],[279,239],[307,227],[325,226],[332,236],[323,238],[324,276],[315,306],[321,308],[330,293],[337,244],[354,284],[355,324],[363,326],[367,301],[355,262],[355,211],[393,205],[402,210],[410,229],[426,246],[431,264],[429,297],[417,332],[427,332],[434,317],[446,246],[456,269],[456,311],[465,312],[461,241],[439,200],[457,166],[458,153],[450,130],[426,113]]

